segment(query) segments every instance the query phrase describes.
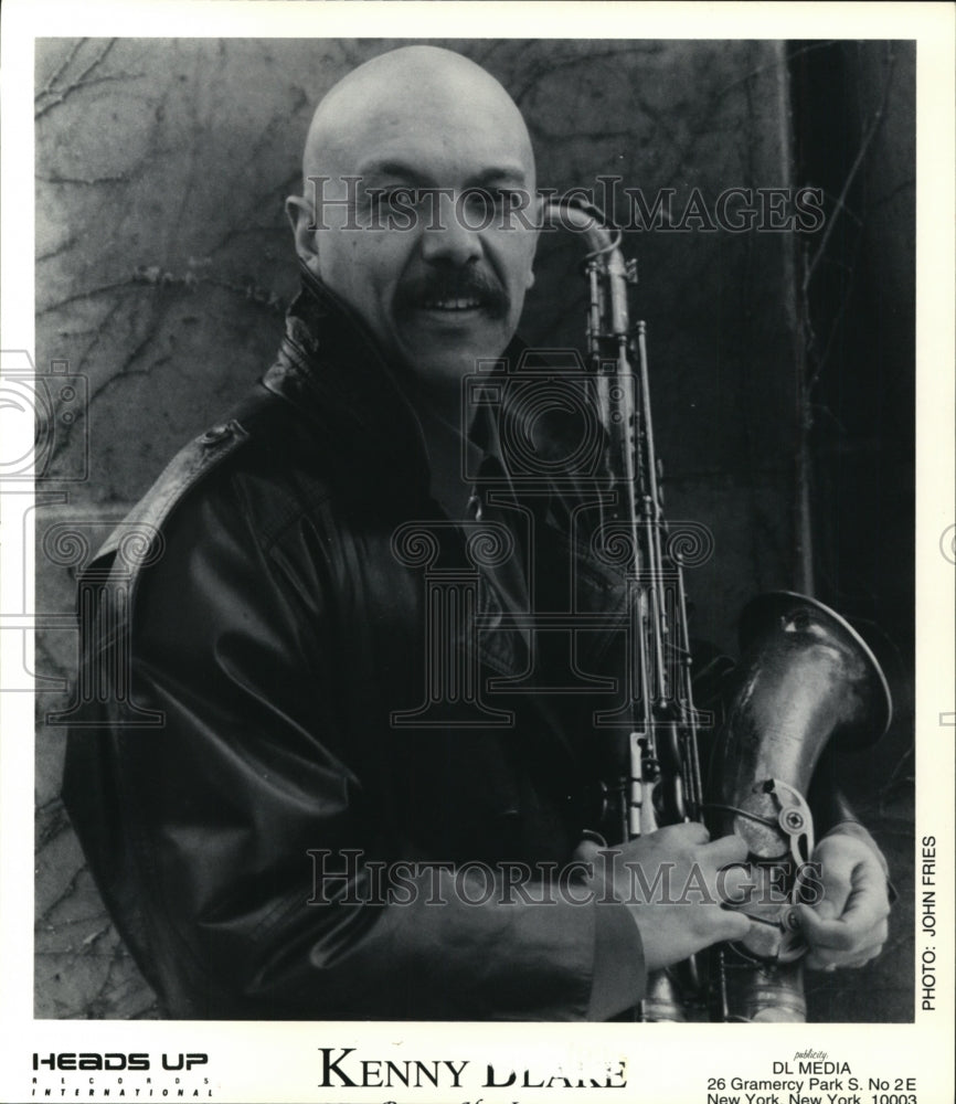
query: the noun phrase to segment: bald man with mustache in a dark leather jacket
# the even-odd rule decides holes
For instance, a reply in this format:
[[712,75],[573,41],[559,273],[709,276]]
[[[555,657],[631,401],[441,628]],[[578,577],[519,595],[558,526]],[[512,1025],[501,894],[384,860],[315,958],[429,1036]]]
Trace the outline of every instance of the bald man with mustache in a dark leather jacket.
[[[622,845],[649,880],[702,887],[692,906],[602,861],[591,683],[550,693],[560,648],[528,625],[574,587],[606,626],[575,657],[597,672],[625,581],[573,541],[573,490],[512,487],[504,423],[485,408],[463,433],[465,378],[520,355],[524,123],[459,55],[397,50],[320,104],[304,178],[276,363],[130,519],[156,533],[149,565],[129,577],[114,541],[87,574],[87,670],[131,682],[71,736],[71,816],[171,1016],[626,1012],[649,970],[747,934],[720,903],[746,846],[692,824]],[[455,678],[478,689],[435,692]],[[808,962],[860,965],[885,869],[829,805]]]

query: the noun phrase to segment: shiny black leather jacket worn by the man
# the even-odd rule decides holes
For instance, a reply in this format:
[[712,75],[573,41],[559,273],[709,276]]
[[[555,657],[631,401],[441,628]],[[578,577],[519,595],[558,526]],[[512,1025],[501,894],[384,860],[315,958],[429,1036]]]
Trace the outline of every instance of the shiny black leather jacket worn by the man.
[[452,524],[402,381],[306,276],[261,385],[87,570],[64,799],[169,1015],[640,997],[625,907],[545,892],[596,822],[625,583],[578,539],[581,479],[516,490],[489,402]]

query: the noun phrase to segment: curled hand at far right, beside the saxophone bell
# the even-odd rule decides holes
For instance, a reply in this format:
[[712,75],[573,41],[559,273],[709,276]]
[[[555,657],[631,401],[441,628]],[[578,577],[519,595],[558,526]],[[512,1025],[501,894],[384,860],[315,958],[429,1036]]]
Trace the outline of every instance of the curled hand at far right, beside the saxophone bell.
[[797,906],[810,947],[806,964],[824,970],[862,966],[886,942],[885,871],[863,840],[839,832],[820,840],[812,861],[820,864],[822,898],[816,905]]

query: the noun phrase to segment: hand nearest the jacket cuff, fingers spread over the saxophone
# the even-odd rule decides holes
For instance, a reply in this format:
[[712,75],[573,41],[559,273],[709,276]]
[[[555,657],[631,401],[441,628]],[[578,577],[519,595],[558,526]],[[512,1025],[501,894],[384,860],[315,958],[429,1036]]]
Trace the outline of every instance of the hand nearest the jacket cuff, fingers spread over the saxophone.
[[630,910],[649,970],[683,962],[711,944],[741,940],[750,931],[746,916],[720,904],[723,896],[733,896],[746,871],[731,870],[718,879],[722,867],[743,862],[747,846],[740,836],[709,840],[703,825],[683,824],[660,828],[604,856],[594,843],[577,849],[577,858],[594,862],[595,880],[601,881],[604,872],[605,890]]

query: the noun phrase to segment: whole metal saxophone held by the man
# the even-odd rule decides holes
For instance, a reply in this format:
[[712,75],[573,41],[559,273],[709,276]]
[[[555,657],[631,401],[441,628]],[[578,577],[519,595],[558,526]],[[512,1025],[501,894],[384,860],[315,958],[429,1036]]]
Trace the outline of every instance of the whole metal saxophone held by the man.
[[[648,978],[640,1018],[649,1021],[806,1019],[793,905],[812,878],[812,816],[806,794],[832,740],[862,746],[892,715],[889,687],[862,638],[822,603],[764,594],[741,617],[742,659],[726,718],[701,766],[703,715],[693,703],[680,542],[668,539],[654,440],[647,329],[631,326],[635,266],[622,233],[594,206],[549,204],[548,216],[588,245],[587,355],[606,439],[607,507],[599,528],[622,535],[633,584],[626,747],[606,789],[608,835],[630,840],[667,824],[699,821],[712,837],[737,832],[764,890],[745,940],[693,956]],[[626,384],[626,385],[623,385]]]

